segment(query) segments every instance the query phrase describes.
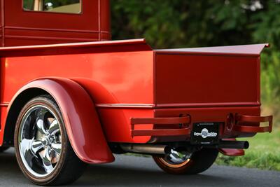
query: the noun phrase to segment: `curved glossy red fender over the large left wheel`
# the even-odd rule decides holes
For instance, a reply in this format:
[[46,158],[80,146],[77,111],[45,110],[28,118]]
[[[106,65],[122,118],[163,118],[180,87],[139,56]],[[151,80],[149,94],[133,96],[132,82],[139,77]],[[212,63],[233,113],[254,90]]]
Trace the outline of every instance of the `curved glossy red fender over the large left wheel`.
[[95,164],[113,162],[94,103],[81,85],[66,78],[40,78],[21,88],[10,105],[30,88],[45,90],[55,99],[71,146],[80,160]]

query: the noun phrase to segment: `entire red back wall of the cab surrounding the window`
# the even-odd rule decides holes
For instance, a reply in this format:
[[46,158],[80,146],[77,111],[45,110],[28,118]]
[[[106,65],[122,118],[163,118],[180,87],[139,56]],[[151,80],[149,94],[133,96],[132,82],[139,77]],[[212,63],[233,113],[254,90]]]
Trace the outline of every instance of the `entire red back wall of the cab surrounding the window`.
[[5,28],[2,46],[111,39],[109,0],[83,0],[80,14],[24,11],[22,0],[1,1]]

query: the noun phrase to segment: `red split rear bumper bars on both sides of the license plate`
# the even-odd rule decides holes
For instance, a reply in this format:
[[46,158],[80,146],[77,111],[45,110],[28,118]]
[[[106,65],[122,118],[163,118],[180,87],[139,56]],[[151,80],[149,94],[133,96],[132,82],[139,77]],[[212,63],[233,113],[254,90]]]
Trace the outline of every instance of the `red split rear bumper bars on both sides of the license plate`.
[[[132,137],[190,137],[192,120],[190,115],[177,118],[130,118]],[[268,123],[261,127],[260,123]],[[135,130],[135,126],[153,124],[153,130]],[[221,123],[221,138],[223,134],[272,132],[272,116],[229,115],[227,122]],[[155,128],[156,127],[156,128]]]

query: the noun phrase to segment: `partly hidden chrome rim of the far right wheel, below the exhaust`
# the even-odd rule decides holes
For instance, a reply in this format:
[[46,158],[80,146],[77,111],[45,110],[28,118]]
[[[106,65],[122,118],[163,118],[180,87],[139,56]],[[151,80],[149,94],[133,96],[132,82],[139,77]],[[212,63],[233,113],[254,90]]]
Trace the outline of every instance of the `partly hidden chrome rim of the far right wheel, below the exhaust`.
[[165,155],[164,158],[159,158],[162,162],[165,162],[165,165],[169,167],[182,167],[186,165],[189,161],[193,153],[188,153],[186,151],[176,151],[175,149],[171,149],[170,153]]

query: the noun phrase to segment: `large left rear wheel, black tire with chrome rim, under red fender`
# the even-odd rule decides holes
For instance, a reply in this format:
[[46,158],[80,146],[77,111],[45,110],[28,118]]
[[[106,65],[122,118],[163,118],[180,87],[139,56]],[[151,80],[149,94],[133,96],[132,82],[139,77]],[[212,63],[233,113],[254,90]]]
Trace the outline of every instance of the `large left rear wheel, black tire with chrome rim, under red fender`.
[[86,167],[74,153],[59,107],[49,95],[31,99],[20,111],[15,155],[27,179],[41,186],[76,181]]

